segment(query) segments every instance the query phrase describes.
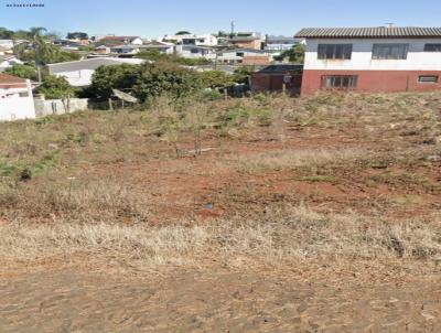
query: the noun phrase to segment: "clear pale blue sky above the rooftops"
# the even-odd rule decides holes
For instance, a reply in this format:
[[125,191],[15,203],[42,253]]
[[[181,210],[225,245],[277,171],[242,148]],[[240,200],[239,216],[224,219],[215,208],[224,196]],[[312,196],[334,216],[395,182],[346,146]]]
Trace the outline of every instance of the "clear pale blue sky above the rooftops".
[[[7,7],[30,2],[45,7]],[[229,31],[232,20],[236,31],[284,35],[303,26],[441,25],[439,0],[0,0],[0,26],[46,26],[63,34],[158,37],[179,30]]]

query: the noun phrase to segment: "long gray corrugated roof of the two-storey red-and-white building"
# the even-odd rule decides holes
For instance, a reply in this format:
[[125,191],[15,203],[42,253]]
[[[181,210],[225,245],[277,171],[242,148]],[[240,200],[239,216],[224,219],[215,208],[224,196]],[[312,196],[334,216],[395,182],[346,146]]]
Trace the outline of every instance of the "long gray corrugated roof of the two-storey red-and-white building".
[[295,37],[303,39],[407,39],[441,37],[441,28],[305,28]]

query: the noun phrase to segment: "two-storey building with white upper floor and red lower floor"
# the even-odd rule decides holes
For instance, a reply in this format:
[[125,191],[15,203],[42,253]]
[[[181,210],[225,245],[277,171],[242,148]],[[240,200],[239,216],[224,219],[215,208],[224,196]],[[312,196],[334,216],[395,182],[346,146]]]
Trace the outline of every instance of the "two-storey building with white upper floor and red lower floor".
[[441,28],[309,28],[295,37],[306,39],[302,95],[441,88]]

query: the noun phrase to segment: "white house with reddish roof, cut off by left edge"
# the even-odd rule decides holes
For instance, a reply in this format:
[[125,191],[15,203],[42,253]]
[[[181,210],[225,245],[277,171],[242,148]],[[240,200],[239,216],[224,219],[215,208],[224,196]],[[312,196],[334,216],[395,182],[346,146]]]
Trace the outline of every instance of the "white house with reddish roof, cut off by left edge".
[[0,120],[35,118],[29,79],[0,73]]

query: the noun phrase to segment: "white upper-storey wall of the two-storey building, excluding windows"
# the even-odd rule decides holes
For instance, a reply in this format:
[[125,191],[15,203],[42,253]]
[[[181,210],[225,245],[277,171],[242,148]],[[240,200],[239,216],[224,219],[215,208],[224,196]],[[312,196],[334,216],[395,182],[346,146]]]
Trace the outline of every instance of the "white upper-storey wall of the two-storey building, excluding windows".
[[[409,44],[407,60],[373,60],[374,44]],[[441,39],[308,40],[304,69],[358,71],[441,71],[441,53],[424,52],[424,44],[441,44]],[[319,60],[319,44],[353,44],[352,60]]]

